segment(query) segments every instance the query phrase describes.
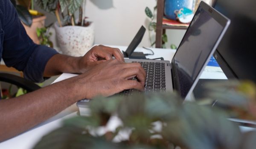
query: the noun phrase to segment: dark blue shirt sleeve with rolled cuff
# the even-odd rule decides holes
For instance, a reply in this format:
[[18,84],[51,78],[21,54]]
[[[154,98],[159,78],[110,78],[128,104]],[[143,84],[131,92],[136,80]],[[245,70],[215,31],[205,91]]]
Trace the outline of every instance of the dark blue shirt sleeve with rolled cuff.
[[12,3],[0,0],[0,58],[6,66],[23,71],[26,79],[42,82],[44,68],[54,54],[54,49],[33,43]]

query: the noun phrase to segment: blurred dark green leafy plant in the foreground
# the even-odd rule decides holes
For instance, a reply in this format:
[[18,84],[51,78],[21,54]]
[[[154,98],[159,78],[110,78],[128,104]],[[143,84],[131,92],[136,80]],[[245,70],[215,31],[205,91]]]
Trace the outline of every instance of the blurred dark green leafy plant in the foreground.
[[206,93],[207,99],[200,104],[217,97],[227,105],[183,103],[174,93],[97,98],[91,102],[89,117],[64,120],[62,127],[44,136],[34,149],[255,148],[256,132],[242,133],[236,123],[227,120],[234,113],[253,116],[248,105],[256,105],[255,85],[217,83]]

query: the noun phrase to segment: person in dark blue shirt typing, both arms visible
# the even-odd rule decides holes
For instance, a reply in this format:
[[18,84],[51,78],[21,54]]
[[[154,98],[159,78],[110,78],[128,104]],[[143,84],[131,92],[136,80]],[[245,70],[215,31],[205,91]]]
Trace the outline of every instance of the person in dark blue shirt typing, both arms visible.
[[[144,90],[144,69],[139,63],[125,63],[119,49],[99,45],[83,57],[71,57],[33,43],[9,0],[0,0],[0,58],[35,82],[61,73],[80,74],[0,100],[0,141],[36,126],[79,100],[110,96],[124,89]],[[138,81],[128,80],[132,77]]]

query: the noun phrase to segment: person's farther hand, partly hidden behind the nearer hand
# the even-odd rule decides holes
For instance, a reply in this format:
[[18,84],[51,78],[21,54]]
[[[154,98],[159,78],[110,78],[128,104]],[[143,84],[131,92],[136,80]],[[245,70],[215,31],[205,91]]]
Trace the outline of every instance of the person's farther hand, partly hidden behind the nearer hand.
[[106,60],[112,60],[114,56],[117,60],[124,61],[122,52],[118,48],[111,48],[108,46],[93,46],[83,57],[79,60],[79,69],[81,73],[87,72],[93,66]]

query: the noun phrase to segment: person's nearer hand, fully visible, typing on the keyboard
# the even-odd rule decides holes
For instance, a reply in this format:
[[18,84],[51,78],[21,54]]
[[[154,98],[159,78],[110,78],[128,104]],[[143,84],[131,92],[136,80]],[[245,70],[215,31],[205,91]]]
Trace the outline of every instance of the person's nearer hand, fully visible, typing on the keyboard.
[[[122,60],[108,60],[100,63],[72,81],[78,89],[79,99],[92,99],[97,95],[110,96],[125,89],[144,90],[146,73],[140,63],[125,63]],[[136,80],[129,80],[136,77]]]

